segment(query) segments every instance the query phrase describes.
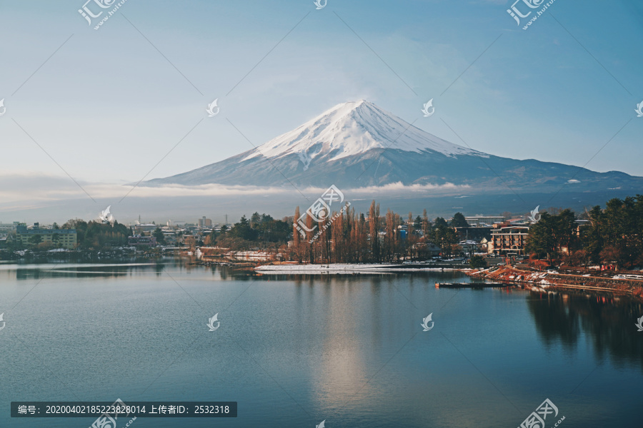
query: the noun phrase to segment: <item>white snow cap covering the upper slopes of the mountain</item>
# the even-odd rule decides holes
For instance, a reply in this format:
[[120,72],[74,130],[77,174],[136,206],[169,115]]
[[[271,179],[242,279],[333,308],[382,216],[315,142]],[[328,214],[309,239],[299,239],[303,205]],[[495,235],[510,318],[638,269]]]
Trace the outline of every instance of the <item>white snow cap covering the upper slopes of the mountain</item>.
[[275,159],[296,154],[305,170],[315,158],[335,161],[387,147],[417,153],[434,151],[449,157],[486,156],[437,138],[362,100],[334,106],[293,131],[259,146],[243,161],[256,156]]

